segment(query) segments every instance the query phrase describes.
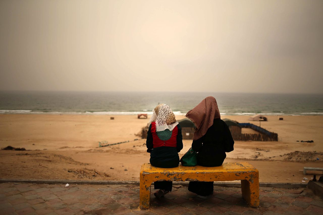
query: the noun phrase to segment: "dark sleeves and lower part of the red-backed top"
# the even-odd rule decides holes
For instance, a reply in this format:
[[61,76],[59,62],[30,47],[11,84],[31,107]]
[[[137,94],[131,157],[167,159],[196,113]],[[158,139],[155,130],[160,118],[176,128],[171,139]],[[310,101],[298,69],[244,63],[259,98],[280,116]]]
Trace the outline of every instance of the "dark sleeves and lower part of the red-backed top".
[[161,167],[161,168],[173,168],[179,165],[180,159],[178,156],[178,152],[180,152],[183,148],[183,141],[182,141],[182,129],[180,125],[177,125],[178,134],[176,137],[176,148],[175,147],[168,147],[168,146],[161,146],[154,148],[152,141],[153,137],[151,134],[151,125],[149,126],[147,132],[147,152],[150,152],[150,163],[154,167]]

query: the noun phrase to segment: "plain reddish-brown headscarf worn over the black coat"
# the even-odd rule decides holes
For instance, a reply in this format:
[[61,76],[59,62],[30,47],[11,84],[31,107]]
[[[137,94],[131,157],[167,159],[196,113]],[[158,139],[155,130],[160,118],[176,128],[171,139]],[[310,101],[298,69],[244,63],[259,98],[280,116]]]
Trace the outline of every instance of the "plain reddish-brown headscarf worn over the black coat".
[[193,140],[201,138],[213,125],[214,119],[221,118],[218,104],[212,96],[204,98],[193,110],[187,112],[186,117],[196,126]]

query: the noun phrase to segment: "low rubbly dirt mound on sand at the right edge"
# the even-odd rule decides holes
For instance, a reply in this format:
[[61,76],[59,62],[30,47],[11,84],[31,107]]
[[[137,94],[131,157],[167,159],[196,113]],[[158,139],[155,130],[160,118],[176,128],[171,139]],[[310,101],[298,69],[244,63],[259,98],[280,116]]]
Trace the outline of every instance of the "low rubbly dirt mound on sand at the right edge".
[[323,161],[323,152],[317,152],[317,151],[294,151],[288,154],[282,155],[284,157],[284,160],[288,161]]

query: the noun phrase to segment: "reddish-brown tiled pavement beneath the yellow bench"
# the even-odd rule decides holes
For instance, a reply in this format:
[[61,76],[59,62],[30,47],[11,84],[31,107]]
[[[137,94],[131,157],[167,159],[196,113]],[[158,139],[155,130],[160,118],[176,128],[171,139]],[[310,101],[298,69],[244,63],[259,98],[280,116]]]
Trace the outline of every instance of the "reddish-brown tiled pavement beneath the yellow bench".
[[187,187],[173,188],[140,210],[138,185],[1,183],[0,214],[323,214],[323,201],[309,189],[260,188],[260,206],[248,207],[240,188],[214,187],[200,198]]

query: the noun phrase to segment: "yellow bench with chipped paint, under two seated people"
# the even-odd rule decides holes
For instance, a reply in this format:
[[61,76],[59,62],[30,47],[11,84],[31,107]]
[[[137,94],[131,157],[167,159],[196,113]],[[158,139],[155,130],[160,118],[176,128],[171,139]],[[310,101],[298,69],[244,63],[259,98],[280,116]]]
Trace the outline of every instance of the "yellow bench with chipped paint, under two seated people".
[[140,171],[140,208],[150,205],[150,186],[154,181],[234,181],[241,180],[243,198],[251,207],[259,206],[259,174],[248,162],[224,163],[219,167],[158,168],[144,163]]

